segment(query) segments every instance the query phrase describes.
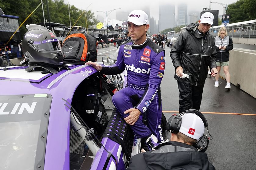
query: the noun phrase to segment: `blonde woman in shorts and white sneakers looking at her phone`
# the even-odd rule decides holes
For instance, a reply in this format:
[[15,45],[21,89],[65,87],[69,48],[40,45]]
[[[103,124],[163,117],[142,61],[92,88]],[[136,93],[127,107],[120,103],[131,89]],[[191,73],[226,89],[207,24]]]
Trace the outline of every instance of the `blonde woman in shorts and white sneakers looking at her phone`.
[[217,49],[216,65],[218,75],[215,77],[215,87],[219,87],[219,71],[220,67],[223,67],[225,73],[227,85],[226,89],[230,89],[230,75],[229,75],[229,50],[233,49],[233,41],[231,37],[227,35],[225,27],[221,27],[218,32],[218,36],[215,37],[215,46]]

